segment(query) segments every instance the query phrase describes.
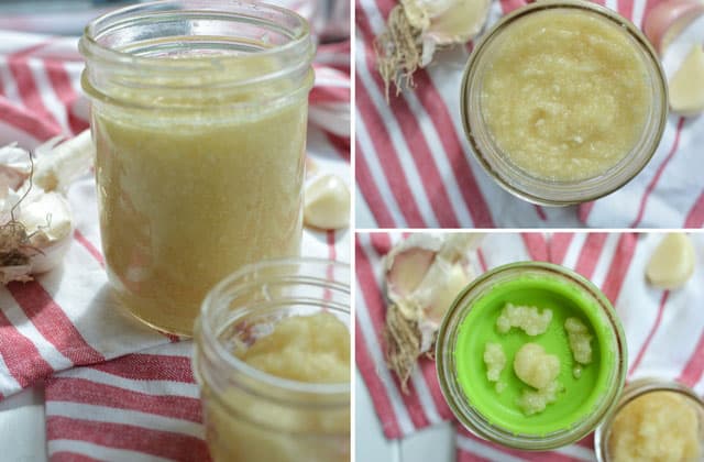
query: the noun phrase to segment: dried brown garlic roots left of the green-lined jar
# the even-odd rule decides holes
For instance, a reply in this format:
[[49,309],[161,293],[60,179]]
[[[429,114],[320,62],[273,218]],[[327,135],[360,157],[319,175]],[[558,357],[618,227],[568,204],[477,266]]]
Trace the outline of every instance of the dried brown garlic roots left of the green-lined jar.
[[398,376],[402,392],[408,394],[408,378],[421,354],[420,331],[418,324],[406,319],[396,305],[386,310],[384,343],[386,365]]

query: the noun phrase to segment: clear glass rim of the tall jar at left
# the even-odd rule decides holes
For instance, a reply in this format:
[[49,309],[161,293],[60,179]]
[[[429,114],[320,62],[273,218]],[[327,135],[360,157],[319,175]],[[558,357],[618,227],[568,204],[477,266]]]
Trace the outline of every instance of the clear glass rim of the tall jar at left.
[[[191,4],[195,7],[200,6],[198,9],[176,9],[178,4]],[[299,51],[302,48],[310,48],[310,55],[312,55],[312,41],[310,38],[310,25],[305,18],[296,13],[293,10],[288,10],[283,7],[273,6],[254,0],[231,0],[229,2],[221,2],[215,0],[154,0],[144,3],[138,3],[117,9],[107,14],[98,16],[90,21],[84,29],[84,35],[80,37],[78,47],[81,54],[87,59],[100,61],[106,64],[116,65],[135,65],[146,67],[153,70],[167,70],[167,72],[206,72],[212,70],[212,56],[190,56],[188,59],[164,59],[154,56],[138,56],[132,53],[127,53],[112,47],[103,46],[98,42],[98,37],[112,28],[123,28],[125,23],[130,21],[139,20],[144,14],[152,18],[173,14],[179,12],[182,14],[196,13],[206,14],[208,16],[219,15],[221,18],[233,16],[237,13],[224,9],[230,6],[249,6],[261,12],[275,12],[282,14],[284,18],[294,20],[297,23],[296,30],[290,34],[290,41],[280,46],[273,46],[257,51],[251,55],[221,55],[218,56],[218,61],[234,59],[241,62],[246,59],[248,56],[276,56],[280,54],[292,53],[293,51]],[[165,9],[173,7],[172,9]]]

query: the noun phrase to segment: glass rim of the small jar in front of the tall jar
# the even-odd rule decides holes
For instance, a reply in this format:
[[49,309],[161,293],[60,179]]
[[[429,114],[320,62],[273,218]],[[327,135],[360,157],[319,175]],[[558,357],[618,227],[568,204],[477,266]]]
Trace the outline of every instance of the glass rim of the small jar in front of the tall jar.
[[[327,395],[327,396],[336,396],[340,394],[349,394],[351,389],[350,382],[345,383],[305,383],[293,381],[288,378],[277,377],[275,375],[268,374],[264,371],[261,371],[244,361],[240,360],[235,355],[231,354],[228,349],[222,344],[221,341],[218,340],[219,332],[216,326],[211,322],[213,319],[212,315],[218,310],[218,308],[222,308],[223,304],[219,304],[218,300],[222,299],[222,297],[227,297],[228,295],[232,296],[233,292],[238,289],[238,283],[241,283],[244,277],[248,275],[256,274],[257,272],[266,268],[282,267],[285,265],[312,265],[317,267],[324,268],[333,268],[334,271],[342,272],[345,274],[350,273],[350,265],[346,263],[328,260],[328,258],[318,258],[318,257],[289,257],[289,258],[275,258],[275,260],[264,260],[261,262],[252,263],[249,265],[242,266],[237,272],[232,273],[220,283],[218,283],[206,296],[204,302],[201,305],[201,311],[196,320],[196,328],[194,330],[195,338],[200,343],[206,342],[204,348],[210,350],[218,359],[220,364],[226,364],[228,369],[235,370],[242,372],[249,377],[252,377],[255,381],[258,381],[265,385],[275,387],[277,389],[283,389],[287,392],[301,393],[306,395]],[[290,282],[292,279],[287,279]],[[349,295],[350,294],[350,285],[349,283],[336,282],[329,278],[319,278],[315,276],[306,276],[301,278],[301,280],[306,284],[323,284],[326,288],[331,290],[337,290],[340,294]],[[241,287],[241,286],[240,286]],[[349,305],[342,306],[340,304],[336,305],[336,309],[350,312]],[[241,315],[246,314],[245,310]],[[231,321],[237,320],[237,317],[230,319]],[[231,324],[231,323],[230,323]],[[197,356],[197,355],[196,355]],[[194,367],[196,370],[197,367]]]

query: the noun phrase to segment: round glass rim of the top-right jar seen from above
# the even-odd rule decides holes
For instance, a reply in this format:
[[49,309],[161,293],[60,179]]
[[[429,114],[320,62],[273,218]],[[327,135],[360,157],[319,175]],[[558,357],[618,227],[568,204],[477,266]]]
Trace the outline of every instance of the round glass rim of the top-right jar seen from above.
[[[482,138],[488,133],[485,122],[480,117],[480,123],[472,123],[472,110],[470,109],[471,96],[477,88],[476,80],[482,75],[474,72],[475,64],[480,58],[484,58],[485,48],[493,43],[497,34],[505,31],[507,26],[516,20],[531,13],[551,9],[573,9],[591,12],[617,24],[636,43],[642,54],[644,64],[648,73],[657,85],[653,85],[653,99],[651,113],[644,125],[642,133],[647,135],[638,140],[630,151],[606,172],[591,178],[557,182],[538,178],[524,173],[518,167],[508,165],[504,152],[497,146],[486,146]],[[664,133],[668,118],[668,88],[664,70],[658,55],[645,37],[630,21],[601,4],[584,0],[543,0],[521,7],[502,18],[493,28],[480,40],[470,56],[462,77],[460,90],[460,110],[462,125],[466,140],[472,147],[472,154],[481,164],[484,170],[505,190],[524,200],[541,206],[569,206],[598,199],[619,189],[632,178],[635,178],[650,162],[654,155],[660,140]],[[659,110],[658,110],[659,109]],[[488,135],[491,138],[491,134]],[[487,154],[488,152],[488,154]],[[495,158],[494,158],[495,157]],[[492,162],[490,162],[490,158]]]

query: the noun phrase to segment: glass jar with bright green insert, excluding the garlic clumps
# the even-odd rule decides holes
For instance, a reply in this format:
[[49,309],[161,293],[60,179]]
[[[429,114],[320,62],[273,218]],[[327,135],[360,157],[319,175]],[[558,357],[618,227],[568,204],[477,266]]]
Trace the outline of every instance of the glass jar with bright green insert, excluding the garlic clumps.
[[[540,297],[548,300],[548,305],[537,301],[541,300]],[[510,387],[499,394],[487,385],[486,367],[482,361],[486,343],[484,337],[495,333],[498,311],[506,302],[538,306],[541,309],[556,307],[558,309],[551,308],[552,324],[557,326],[558,319],[569,314],[587,319],[595,334],[592,348],[598,360],[583,366],[579,378],[572,378],[570,369],[561,364],[558,380],[565,389],[541,414],[525,416],[517,409],[512,397],[515,392]],[[560,306],[568,308],[560,314]],[[570,361],[572,359],[566,346],[566,334],[561,328],[549,327],[546,333],[538,337],[527,337],[520,332],[518,336],[525,337],[519,341],[507,340],[506,334],[496,336],[496,340],[490,341],[498,341],[505,343],[504,348],[516,350],[522,342],[547,342],[544,338],[549,337],[554,344],[563,343],[561,349],[566,351]],[[505,354],[507,362],[504,372],[513,375],[514,358],[510,350]],[[557,351],[556,354],[560,355]],[[608,299],[596,286],[559,265],[519,262],[484,273],[458,296],[438,331],[436,365],[442,394],[454,416],[468,430],[510,448],[548,450],[579,441],[612,413],[626,377],[626,338],[620,322]],[[564,356],[560,361],[565,361]],[[520,380],[516,377],[515,381]]]

